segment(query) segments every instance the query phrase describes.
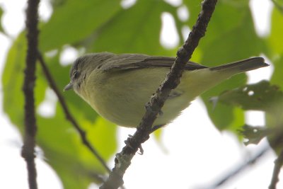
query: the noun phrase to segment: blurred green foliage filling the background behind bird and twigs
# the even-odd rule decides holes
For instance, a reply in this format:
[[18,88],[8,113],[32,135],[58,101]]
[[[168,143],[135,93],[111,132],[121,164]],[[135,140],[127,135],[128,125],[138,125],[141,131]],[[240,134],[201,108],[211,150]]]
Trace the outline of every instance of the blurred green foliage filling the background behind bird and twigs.
[[[140,0],[127,8],[123,8],[119,1],[114,0],[58,0],[50,3],[53,9],[52,16],[46,22],[41,21],[39,41],[40,50],[44,53],[47,66],[59,88],[63,88],[69,82],[70,66],[60,64],[60,56],[67,47],[74,47],[81,55],[86,52],[108,51],[175,57],[178,46],[183,44],[183,28],[192,28],[201,8],[201,1],[184,0],[181,6],[185,6],[190,13],[189,18],[184,21],[177,13],[180,6],[172,6],[158,0]],[[0,9],[0,16],[2,12]],[[170,49],[163,47],[160,42],[161,14],[164,12],[173,16],[180,39],[178,46]],[[270,99],[274,103],[278,96],[282,96],[280,88],[283,88],[282,12],[273,8],[270,34],[265,37],[255,33],[254,25],[249,1],[220,0],[209,23],[207,34],[201,40],[192,61],[214,66],[265,55],[270,60],[268,63],[274,65],[274,73],[271,84],[265,85],[267,91],[268,88],[271,89],[268,93],[269,98],[264,98],[263,103],[270,102]],[[4,32],[1,25],[0,32]],[[25,52],[26,41],[23,31],[13,41],[2,77],[4,110],[21,132],[23,108],[18,107],[23,107],[23,96],[19,94],[23,85]],[[234,76],[202,95],[209,116],[219,130],[230,130],[238,134],[236,130],[245,125],[244,110],[266,110],[265,105],[255,108],[253,105],[247,105],[250,100],[245,101],[243,98],[246,91],[232,90],[246,84],[246,80],[245,74]],[[258,90],[261,85],[262,83],[252,86],[255,88],[254,92],[257,92],[256,95],[246,97],[266,97],[265,91]],[[277,89],[273,90],[275,86]],[[37,108],[45,101],[46,91],[49,89],[45,76],[37,65]],[[224,90],[232,91],[221,94]],[[219,102],[209,102],[212,96],[219,96]],[[88,140],[100,151],[103,158],[108,160],[116,152],[115,125],[100,118],[74,93],[64,93],[64,98],[71,113],[76,115],[76,120],[83,126],[83,130],[86,130]],[[244,100],[238,101],[240,99]],[[282,97],[278,99],[282,102]],[[87,188],[93,182],[92,173],[103,174],[105,170],[88,149],[82,146],[79,135],[65,119],[58,103],[55,110],[52,116],[37,113],[37,144],[45,152],[47,163],[62,179],[64,188]],[[282,125],[282,111],[269,113],[267,117],[267,127]]]

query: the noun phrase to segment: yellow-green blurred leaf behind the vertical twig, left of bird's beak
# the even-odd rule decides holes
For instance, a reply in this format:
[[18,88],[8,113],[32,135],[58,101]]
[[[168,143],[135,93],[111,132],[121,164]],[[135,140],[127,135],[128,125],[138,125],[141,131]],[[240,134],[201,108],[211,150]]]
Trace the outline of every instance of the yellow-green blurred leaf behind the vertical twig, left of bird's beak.
[[[23,131],[23,71],[25,68],[26,41],[25,33],[21,33],[13,42],[2,76],[4,91],[4,111],[13,124]],[[37,79],[35,82],[35,105],[39,105],[45,98],[45,82]]]

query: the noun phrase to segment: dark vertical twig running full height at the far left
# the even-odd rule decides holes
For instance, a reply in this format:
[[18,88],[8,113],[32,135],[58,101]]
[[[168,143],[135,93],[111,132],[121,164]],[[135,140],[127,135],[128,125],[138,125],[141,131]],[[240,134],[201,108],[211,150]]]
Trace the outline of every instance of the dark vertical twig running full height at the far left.
[[30,189],[37,189],[36,168],[35,168],[35,135],[37,131],[35,119],[35,62],[37,59],[37,8],[39,0],[28,0],[26,10],[26,38],[28,40],[28,52],[25,58],[25,76],[23,93],[25,96],[25,134],[21,155],[25,159],[28,168],[28,184]]

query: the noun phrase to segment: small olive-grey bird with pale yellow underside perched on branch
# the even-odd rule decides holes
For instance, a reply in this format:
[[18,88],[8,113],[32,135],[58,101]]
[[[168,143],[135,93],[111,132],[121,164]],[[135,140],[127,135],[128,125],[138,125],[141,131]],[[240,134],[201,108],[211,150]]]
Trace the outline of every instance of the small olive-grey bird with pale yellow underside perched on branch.
[[[155,93],[175,62],[174,57],[98,52],[74,61],[70,82],[64,91],[74,89],[106,120],[123,127],[137,127],[145,113],[144,105]],[[197,96],[231,76],[267,67],[262,57],[206,67],[187,62],[180,84],[173,89],[154,125],[168,125]]]

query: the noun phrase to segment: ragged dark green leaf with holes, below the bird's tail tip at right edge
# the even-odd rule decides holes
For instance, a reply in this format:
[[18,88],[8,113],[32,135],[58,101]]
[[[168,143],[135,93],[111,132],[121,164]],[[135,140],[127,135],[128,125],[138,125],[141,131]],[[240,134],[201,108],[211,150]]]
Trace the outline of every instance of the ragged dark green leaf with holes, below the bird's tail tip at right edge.
[[[248,139],[245,144],[258,144],[263,137],[268,141],[275,151],[279,149],[278,136],[282,134],[282,106],[283,91],[278,86],[270,85],[268,81],[260,81],[258,84],[241,86],[230,91],[225,91],[218,96],[219,103],[236,105],[244,110],[265,111],[266,126],[253,127],[245,125],[241,134]],[[278,143],[279,142],[279,143]]]

